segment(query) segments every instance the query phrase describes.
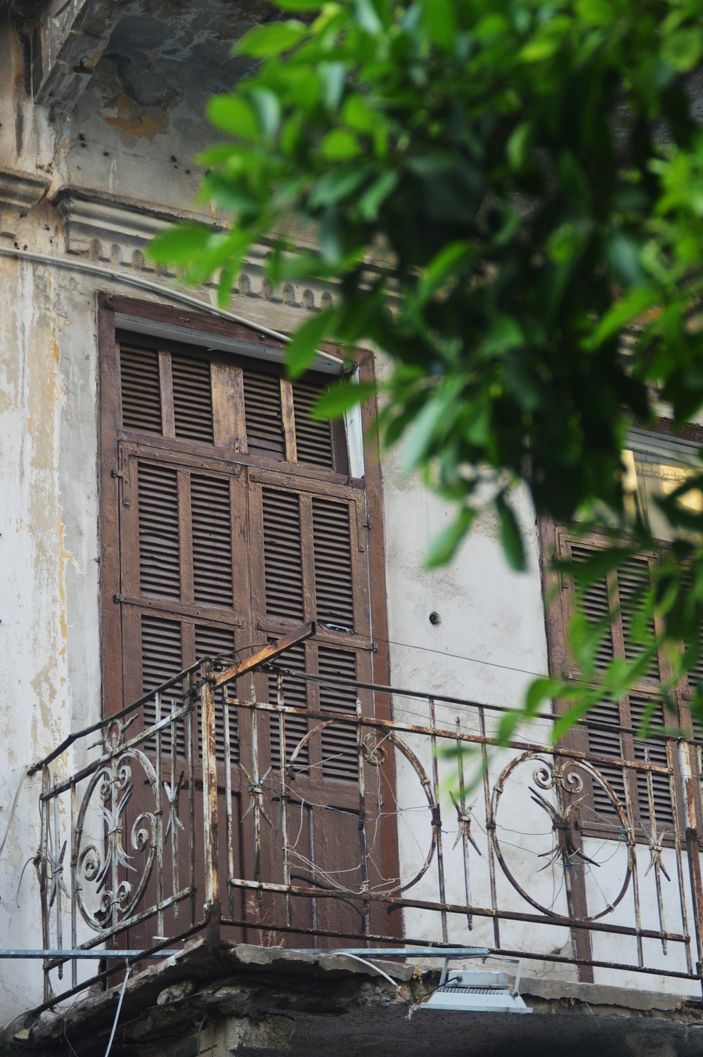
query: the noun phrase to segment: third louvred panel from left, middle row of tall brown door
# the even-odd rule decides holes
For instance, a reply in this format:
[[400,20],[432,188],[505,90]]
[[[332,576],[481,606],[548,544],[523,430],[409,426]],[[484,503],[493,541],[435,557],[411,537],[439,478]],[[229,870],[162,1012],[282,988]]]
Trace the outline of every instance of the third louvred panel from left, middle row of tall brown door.
[[297,495],[264,488],[263,552],[266,613],[303,619],[300,507]]

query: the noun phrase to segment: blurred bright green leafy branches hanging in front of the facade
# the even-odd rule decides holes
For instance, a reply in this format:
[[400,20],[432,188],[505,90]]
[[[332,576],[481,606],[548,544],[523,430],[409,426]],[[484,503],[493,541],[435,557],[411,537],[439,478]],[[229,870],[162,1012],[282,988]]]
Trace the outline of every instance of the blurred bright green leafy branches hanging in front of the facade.
[[[232,226],[169,231],[152,255],[193,282],[219,272],[223,303],[264,237],[275,282],[336,284],[290,370],[327,338],[390,357],[382,438],[403,438],[406,465],[457,505],[432,563],[488,502],[520,568],[516,482],[540,514],[570,521],[597,501],[631,533],[627,553],[655,545],[628,521],[621,452],[662,405],[676,429],[703,404],[703,0],[278,6],[236,45],[256,72],[209,107],[229,138],[201,157],[203,196]],[[317,249],[291,252],[292,220]],[[337,392],[328,411],[365,395]],[[697,662],[703,617],[701,519],[681,498],[666,511],[680,538],[640,599],[658,616],[656,642],[641,622],[643,655],[691,644],[672,679]],[[572,630],[587,676],[597,634]],[[635,675],[613,662],[604,679],[617,694]],[[540,687],[533,710],[554,693]],[[567,689],[577,715],[592,691]]]

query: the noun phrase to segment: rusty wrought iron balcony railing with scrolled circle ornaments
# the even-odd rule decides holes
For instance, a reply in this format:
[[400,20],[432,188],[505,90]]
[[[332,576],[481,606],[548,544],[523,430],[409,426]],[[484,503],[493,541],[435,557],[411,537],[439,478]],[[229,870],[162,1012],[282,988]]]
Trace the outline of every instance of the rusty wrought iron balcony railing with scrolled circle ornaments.
[[[700,986],[691,743],[596,757],[552,746],[538,719],[499,748],[500,709],[344,681],[350,711],[292,707],[320,676],[284,649],[313,631],[201,662],[36,765],[47,1003],[100,976],[76,951],[205,929],[478,945],[555,977]],[[275,692],[256,692],[261,671]]]

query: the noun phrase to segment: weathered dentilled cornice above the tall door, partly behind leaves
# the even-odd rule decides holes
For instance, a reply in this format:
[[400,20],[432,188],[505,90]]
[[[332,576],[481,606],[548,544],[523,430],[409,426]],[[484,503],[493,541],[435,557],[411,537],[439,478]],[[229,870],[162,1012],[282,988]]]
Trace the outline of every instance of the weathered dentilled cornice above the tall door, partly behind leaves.
[[[152,263],[145,257],[146,244],[170,224],[182,220],[208,223],[208,218],[185,210],[167,211],[132,199],[108,197],[99,191],[78,187],[62,187],[52,198],[52,203],[62,221],[66,252],[87,257],[94,262],[105,262],[111,267],[130,268],[135,272],[177,278],[172,270]],[[220,225],[209,223],[212,230]],[[264,274],[269,248],[258,244],[247,256],[236,283],[236,293],[243,297],[271,301],[286,308],[316,312],[332,303],[334,285],[302,286],[286,283],[275,290]],[[216,282],[206,285],[216,286]]]

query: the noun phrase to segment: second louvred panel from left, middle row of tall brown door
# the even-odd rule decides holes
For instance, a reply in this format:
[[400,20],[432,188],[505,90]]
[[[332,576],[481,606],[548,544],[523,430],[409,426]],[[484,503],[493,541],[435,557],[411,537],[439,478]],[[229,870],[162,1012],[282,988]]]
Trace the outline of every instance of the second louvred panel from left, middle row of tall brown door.
[[192,583],[197,602],[233,605],[229,482],[192,475]]

